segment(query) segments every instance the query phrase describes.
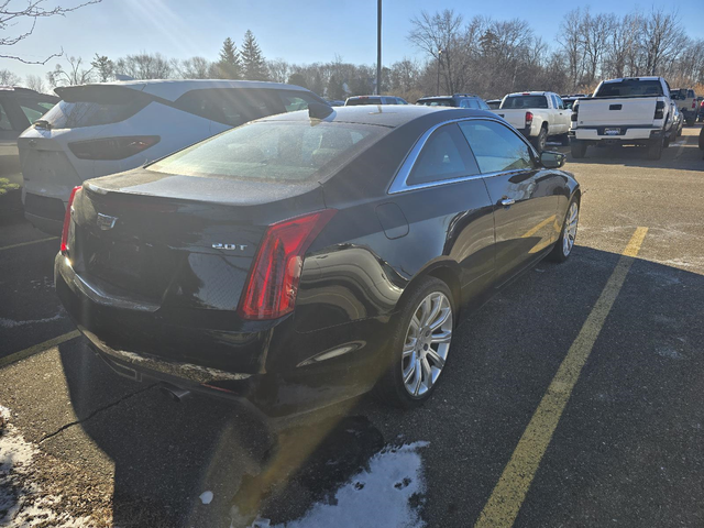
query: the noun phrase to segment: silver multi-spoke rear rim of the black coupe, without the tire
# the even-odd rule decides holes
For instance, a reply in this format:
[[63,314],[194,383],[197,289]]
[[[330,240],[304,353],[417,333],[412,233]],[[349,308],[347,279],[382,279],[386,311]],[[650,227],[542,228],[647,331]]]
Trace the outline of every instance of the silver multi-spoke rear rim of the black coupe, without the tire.
[[428,295],[416,308],[406,332],[402,375],[408,394],[418,398],[438,381],[452,340],[452,305],[440,293]]

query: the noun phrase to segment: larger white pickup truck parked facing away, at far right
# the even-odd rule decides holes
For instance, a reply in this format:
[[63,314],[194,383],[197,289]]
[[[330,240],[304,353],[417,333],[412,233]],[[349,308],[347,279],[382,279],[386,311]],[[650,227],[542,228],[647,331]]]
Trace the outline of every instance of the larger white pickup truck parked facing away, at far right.
[[572,156],[584,157],[590,145],[622,144],[647,146],[648,158],[660,160],[674,139],[674,109],[662,77],[604,80],[572,107]]

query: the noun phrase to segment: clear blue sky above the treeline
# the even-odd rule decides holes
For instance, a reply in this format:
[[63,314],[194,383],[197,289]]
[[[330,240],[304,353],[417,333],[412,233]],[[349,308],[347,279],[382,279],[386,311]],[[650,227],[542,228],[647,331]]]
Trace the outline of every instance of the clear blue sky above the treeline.
[[[20,0],[16,0],[20,1]],[[62,4],[79,0],[62,0]],[[50,0],[54,3],[54,0]],[[702,13],[690,16],[692,0],[667,2],[678,9],[691,37],[704,37]],[[406,40],[409,19],[422,9],[452,8],[466,19],[475,14],[494,19],[520,18],[535,32],[554,45],[562,16],[582,2],[503,2],[442,0],[384,0],[383,63],[421,57]],[[597,0],[588,3],[593,12],[623,14],[634,9],[650,10],[651,3]],[[546,9],[546,7],[549,7]],[[63,46],[67,55],[90,62],[96,52],[117,58],[127,54],[161,52],[167,57],[201,55],[215,59],[222,41],[231,36],[238,44],[244,32],[254,32],[265,57],[292,63],[328,62],[336,53],[343,61],[372,64],[376,61],[376,1],[254,1],[254,0],[103,0],[66,18],[41,20],[35,34],[12,53],[26,59],[44,58]],[[9,50],[0,50],[8,53]],[[0,59],[0,69],[16,74],[44,75],[54,67],[25,66]]]

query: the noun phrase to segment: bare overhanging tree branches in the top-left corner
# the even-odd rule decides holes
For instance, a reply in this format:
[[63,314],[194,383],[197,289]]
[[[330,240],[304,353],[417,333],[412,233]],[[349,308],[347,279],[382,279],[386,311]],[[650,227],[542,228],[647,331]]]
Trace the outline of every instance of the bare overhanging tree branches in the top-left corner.
[[[42,61],[28,61],[18,55],[2,53],[10,46],[14,46],[19,42],[29,38],[36,29],[40,19],[48,19],[52,16],[65,16],[77,9],[100,3],[102,0],[89,0],[73,7],[55,6],[53,8],[44,7],[46,0],[0,0],[0,58],[10,58],[24,64],[46,64],[52,58],[64,54],[64,51],[55,52]],[[10,31],[12,29],[12,31]]]

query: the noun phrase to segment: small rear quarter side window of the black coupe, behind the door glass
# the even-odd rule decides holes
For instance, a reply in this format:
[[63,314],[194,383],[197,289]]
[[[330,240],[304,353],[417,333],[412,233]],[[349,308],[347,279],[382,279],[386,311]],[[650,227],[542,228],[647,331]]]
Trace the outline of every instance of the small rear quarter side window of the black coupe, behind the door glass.
[[408,176],[408,185],[442,182],[479,174],[466,141],[457,124],[436,130],[420,151]]

